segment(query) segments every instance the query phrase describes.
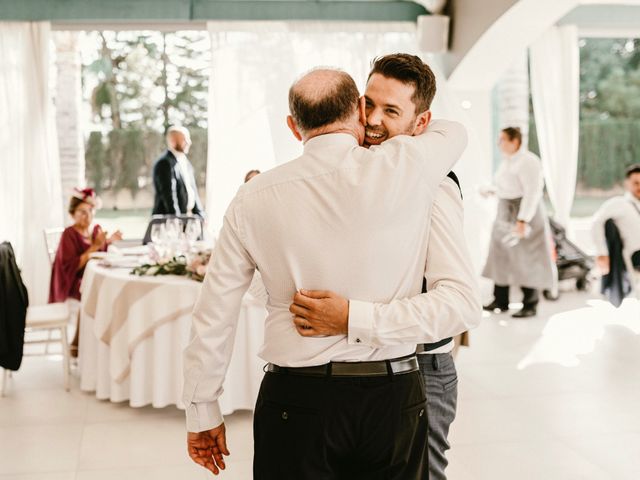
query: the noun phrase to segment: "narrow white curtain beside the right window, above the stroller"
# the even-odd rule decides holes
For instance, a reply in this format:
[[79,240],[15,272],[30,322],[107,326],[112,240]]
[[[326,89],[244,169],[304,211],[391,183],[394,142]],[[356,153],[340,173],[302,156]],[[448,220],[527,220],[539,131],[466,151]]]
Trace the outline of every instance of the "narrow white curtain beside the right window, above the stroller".
[[552,27],[530,49],[531,96],[555,219],[569,224],[578,170],[580,59],[574,25]]

